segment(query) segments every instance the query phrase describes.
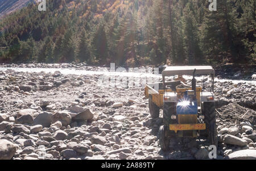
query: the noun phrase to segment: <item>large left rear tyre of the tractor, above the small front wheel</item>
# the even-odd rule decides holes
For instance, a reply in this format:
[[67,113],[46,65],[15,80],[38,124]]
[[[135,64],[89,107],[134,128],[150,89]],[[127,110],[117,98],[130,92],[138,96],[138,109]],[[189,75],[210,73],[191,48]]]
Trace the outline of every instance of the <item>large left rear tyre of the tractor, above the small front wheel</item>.
[[171,116],[175,114],[175,103],[168,102],[164,103],[163,107],[163,124],[165,127],[169,127],[169,124],[172,123]]

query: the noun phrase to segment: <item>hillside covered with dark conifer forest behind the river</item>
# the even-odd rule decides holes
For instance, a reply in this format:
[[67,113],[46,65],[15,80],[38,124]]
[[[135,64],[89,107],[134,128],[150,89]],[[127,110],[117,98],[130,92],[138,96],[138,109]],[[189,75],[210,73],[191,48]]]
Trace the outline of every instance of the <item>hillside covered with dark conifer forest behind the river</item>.
[[255,62],[255,1],[49,0],[0,22],[0,62]]

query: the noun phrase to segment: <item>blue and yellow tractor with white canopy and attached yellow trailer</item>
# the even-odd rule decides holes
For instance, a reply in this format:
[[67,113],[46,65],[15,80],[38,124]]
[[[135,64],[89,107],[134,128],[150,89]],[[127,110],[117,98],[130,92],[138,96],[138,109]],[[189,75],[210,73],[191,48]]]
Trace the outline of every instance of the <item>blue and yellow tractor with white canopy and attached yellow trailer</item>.
[[[191,86],[183,81],[166,82],[166,77],[176,75],[193,76]],[[210,77],[210,91],[196,86],[195,76]],[[167,66],[162,72],[163,82],[148,84],[144,94],[152,118],[159,118],[163,110],[163,126],[160,127],[160,147],[167,151],[170,139],[177,137],[197,137],[207,134],[211,145],[218,144],[216,114],[214,104],[214,69],[212,66]]]

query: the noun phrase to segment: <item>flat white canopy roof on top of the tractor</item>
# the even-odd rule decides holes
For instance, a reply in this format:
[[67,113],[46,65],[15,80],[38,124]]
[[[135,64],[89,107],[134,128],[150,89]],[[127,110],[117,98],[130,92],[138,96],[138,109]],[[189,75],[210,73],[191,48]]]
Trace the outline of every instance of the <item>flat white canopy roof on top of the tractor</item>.
[[162,72],[162,76],[193,75],[195,69],[195,74],[214,74],[212,66],[167,66]]

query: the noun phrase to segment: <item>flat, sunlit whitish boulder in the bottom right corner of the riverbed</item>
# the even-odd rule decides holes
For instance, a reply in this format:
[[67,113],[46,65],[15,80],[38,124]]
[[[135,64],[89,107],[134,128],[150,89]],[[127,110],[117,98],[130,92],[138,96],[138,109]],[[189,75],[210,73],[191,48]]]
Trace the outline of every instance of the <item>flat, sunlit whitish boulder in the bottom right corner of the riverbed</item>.
[[228,155],[228,159],[233,160],[256,160],[256,150],[255,149],[244,149],[236,151]]

